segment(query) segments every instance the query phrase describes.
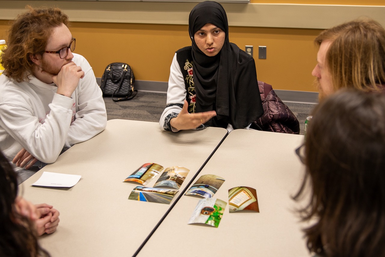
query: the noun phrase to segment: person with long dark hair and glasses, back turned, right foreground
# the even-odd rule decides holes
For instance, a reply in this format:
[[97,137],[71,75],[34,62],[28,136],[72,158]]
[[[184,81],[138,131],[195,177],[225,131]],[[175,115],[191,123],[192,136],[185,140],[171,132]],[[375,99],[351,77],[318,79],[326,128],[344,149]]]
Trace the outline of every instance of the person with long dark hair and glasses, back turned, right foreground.
[[[296,150],[306,166],[299,210],[320,256],[385,256],[385,94],[342,90],[318,105]],[[307,198],[306,198],[307,199]]]

